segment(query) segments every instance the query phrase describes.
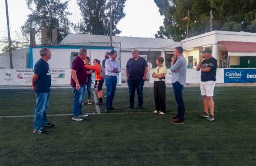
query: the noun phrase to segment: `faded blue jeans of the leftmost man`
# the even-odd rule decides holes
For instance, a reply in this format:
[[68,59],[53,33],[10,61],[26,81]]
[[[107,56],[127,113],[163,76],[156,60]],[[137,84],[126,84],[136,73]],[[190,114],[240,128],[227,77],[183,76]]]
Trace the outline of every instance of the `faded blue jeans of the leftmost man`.
[[50,92],[35,93],[34,130],[41,130],[47,123],[46,110],[49,107]]

